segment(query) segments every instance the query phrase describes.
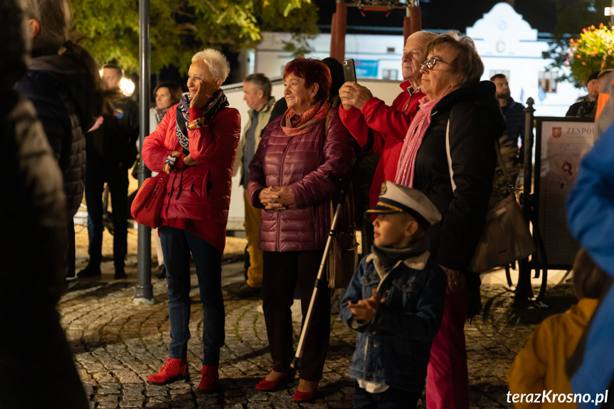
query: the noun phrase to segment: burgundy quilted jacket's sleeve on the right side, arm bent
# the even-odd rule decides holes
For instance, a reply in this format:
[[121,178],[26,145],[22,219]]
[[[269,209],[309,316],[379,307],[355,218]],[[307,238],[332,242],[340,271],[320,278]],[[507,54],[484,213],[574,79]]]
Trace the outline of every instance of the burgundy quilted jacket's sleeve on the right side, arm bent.
[[297,208],[319,205],[330,198],[331,193],[338,189],[329,178],[330,174],[334,175],[333,179],[341,180],[349,174],[354,152],[349,132],[339,119],[337,110],[332,112],[322,154],[324,163],[290,186],[292,201]]

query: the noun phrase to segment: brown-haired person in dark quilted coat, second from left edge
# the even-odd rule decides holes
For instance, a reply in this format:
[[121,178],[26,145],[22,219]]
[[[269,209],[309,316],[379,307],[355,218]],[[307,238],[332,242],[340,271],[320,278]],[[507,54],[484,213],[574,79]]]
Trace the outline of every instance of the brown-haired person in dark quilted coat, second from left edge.
[[85,137],[102,109],[100,77],[93,58],[66,41],[70,11],[65,0],[24,0],[32,37],[32,59],[16,87],[33,103],[55,159],[66,195],[68,239],[63,243],[66,276],[75,277],[75,225],[85,180]]

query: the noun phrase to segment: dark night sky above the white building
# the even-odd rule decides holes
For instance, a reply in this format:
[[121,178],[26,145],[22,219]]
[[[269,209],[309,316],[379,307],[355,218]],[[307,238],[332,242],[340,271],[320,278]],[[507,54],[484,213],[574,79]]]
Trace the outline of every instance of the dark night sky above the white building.
[[[336,5],[334,0],[313,0],[320,9],[320,26],[330,26],[331,16]],[[477,19],[492,9],[497,0],[430,0],[420,1],[422,9],[422,26],[425,29],[450,29],[454,28],[464,32],[467,26],[472,26]],[[537,28],[540,33],[550,33],[554,29],[556,18],[551,12],[551,6],[547,1],[540,0],[516,0],[514,9],[522,14],[523,18]],[[390,16],[385,13],[369,12],[366,17],[359,14],[356,7],[348,8],[348,26],[374,26],[373,33],[378,33],[377,26],[396,27],[402,32],[404,10],[395,10]],[[329,32],[329,28],[321,27],[322,32]],[[356,31],[348,29],[348,33]],[[383,33],[383,32],[379,32]]]

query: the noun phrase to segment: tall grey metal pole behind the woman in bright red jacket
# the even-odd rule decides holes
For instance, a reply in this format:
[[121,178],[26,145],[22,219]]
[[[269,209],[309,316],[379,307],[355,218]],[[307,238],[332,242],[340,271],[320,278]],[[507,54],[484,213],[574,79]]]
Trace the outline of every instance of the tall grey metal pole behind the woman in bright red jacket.
[[[139,187],[152,172],[145,166],[142,156],[144,139],[149,135],[149,0],[139,0],[139,108],[140,134],[139,149],[141,161],[139,166]],[[152,286],[152,229],[139,224],[137,255],[137,287],[134,288],[132,301],[153,304]]]

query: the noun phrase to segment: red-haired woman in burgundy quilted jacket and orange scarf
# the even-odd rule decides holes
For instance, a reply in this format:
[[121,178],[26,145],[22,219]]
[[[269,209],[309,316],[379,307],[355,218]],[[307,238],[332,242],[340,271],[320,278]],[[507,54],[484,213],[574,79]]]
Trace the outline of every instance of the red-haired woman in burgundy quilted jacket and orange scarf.
[[[344,179],[351,168],[350,135],[327,102],[330,86],[330,71],[322,61],[290,61],[284,70],[288,110],[269,124],[250,164],[248,195],[264,209],[259,247],[264,251],[263,309],[273,361],[272,371],[256,386],[261,391],[294,378],[294,289],[298,281],[305,317],[326,245],[331,194],[338,190],[334,180]],[[305,339],[297,401],[315,396],[329,326],[330,299],[318,297]]]

